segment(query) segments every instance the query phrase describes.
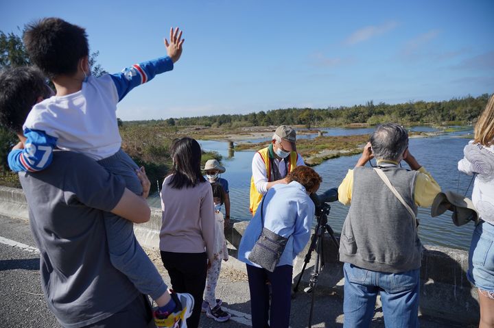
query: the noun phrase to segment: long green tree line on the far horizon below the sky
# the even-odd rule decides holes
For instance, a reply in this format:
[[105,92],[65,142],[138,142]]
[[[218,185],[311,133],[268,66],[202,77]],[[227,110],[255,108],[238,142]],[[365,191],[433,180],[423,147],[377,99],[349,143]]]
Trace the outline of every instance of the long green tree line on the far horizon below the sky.
[[167,126],[202,125],[206,127],[251,127],[270,125],[305,125],[336,127],[353,123],[376,125],[396,122],[403,125],[471,124],[484,110],[489,94],[454,98],[445,101],[409,101],[390,105],[374,104],[314,108],[286,108],[250,114],[220,114],[153,120]]

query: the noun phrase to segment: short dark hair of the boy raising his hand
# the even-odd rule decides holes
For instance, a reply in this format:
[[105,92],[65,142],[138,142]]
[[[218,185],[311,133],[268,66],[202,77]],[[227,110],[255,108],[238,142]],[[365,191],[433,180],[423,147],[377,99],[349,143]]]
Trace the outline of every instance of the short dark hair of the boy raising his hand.
[[79,60],[89,55],[86,30],[60,18],[27,25],[23,39],[31,61],[50,79],[77,73]]

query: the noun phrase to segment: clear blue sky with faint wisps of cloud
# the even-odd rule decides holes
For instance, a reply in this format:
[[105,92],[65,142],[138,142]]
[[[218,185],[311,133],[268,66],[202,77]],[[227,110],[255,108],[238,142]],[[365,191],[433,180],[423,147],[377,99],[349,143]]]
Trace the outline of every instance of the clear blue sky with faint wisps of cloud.
[[165,55],[172,72],[119,104],[124,120],[435,101],[494,92],[494,1],[2,0],[0,30],[59,16],[110,73]]

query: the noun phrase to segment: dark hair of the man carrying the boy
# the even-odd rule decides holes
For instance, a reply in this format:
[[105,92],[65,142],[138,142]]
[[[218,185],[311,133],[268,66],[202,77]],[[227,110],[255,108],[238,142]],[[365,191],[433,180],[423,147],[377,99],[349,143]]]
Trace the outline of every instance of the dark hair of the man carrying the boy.
[[0,71],[0,125],[22,133],[31,108],[39,97],[45,99],[49,94],[49,86],[36,68],[4,68]]

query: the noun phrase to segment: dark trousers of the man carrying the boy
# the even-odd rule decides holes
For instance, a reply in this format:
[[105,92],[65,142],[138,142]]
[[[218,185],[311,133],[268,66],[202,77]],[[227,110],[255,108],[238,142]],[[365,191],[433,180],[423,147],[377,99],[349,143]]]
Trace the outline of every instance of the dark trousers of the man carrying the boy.
[[113,328],[113,327],[149,327],[152,318],[152,310],[147,296],[140,294],[126,307],[119,310],[104,320],[98,321],[86,328]]

